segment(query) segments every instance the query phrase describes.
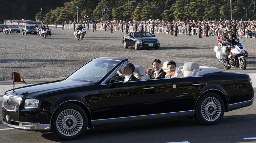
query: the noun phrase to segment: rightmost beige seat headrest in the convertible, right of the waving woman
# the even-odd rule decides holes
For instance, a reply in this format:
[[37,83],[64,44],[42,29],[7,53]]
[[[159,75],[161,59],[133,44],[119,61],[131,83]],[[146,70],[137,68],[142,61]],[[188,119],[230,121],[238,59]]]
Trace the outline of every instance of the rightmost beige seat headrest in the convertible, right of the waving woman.
[[181,70],[183,72],[183,76],[195,76],[197,71],[201,71],[199,69],[198,63],[193,62],[185,62],[183,69]]

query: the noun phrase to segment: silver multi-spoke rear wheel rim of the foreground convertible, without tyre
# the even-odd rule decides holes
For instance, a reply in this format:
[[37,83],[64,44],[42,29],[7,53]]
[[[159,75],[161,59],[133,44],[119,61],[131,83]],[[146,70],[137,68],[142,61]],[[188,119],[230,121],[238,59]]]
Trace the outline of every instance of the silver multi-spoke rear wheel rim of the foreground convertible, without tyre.
[[206,98],[201,105],[201,114],[207,121],[215,121],[221,115],[221,103],[215,97]]

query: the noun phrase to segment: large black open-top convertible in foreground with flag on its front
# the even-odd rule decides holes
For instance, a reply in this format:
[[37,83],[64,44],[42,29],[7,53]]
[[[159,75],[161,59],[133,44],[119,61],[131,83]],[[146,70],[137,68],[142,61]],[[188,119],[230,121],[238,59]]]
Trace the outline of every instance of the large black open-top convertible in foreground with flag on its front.
[[3,124],[70,140],[87,127],[102,125],[184,118],[213,125],[224,112],[253,103],[254,89],[244,73],[186,62],[177,67],[184,77],[149,79],[143,66],[135,65],[140,80],[124,82],[128,63],[95,58],[63,80],[9,90],[3,98]]

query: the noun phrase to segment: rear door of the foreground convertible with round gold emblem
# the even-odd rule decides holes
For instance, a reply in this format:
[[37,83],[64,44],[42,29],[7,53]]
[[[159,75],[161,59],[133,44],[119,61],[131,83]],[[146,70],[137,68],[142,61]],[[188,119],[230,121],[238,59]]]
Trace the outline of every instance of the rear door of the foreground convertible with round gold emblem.
[[154,80],[156,84],[156,117],[191,116],[198,92],[205,85],[203,76]]

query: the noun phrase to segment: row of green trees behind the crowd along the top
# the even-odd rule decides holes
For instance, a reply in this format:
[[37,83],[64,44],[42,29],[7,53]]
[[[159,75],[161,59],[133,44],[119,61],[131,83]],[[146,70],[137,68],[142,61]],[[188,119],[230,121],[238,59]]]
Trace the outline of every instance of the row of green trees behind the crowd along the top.
[[[78,7],[78,9],[76,8]],[[39,11],[39,21],[62,23],[78,19],[102,17],[103,9],[110,9],[111,20],[145,21],[160,19],[220,20],[230,19],[230,0],[72,0],[45,15]],[[244,21],[256,19],[256,0],[232,0],[232,18]]]

